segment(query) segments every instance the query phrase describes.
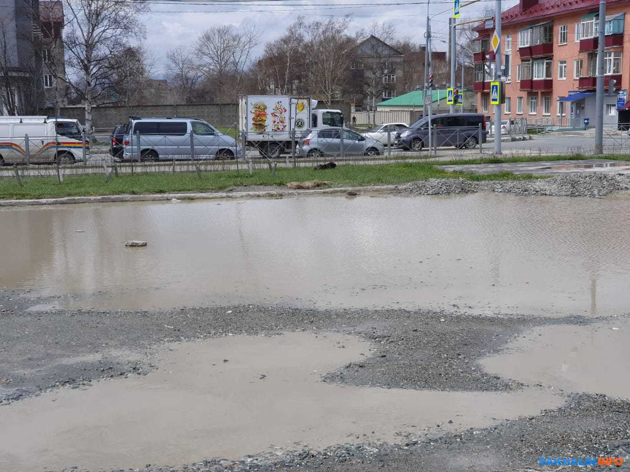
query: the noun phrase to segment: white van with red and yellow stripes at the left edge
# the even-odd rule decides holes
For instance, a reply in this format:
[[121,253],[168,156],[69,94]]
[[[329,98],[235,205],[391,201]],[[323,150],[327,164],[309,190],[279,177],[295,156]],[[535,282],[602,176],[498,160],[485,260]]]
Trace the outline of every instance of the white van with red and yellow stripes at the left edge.
[[[89,142],[86,141],[85,146],[87,157]],[[79,160],[83,160],[83,132],[79,121],[52,116],[0,116],[0,166],[44,162],[72,164]]]

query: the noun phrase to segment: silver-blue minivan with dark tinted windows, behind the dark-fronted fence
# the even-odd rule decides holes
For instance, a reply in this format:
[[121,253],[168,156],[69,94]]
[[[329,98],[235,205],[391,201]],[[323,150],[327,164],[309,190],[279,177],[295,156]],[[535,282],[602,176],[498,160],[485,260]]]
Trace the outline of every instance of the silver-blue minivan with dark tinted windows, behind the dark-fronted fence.
[[238,159],[243,150],[234,138],[197,118],[132,116],[123,139],[123,159]]

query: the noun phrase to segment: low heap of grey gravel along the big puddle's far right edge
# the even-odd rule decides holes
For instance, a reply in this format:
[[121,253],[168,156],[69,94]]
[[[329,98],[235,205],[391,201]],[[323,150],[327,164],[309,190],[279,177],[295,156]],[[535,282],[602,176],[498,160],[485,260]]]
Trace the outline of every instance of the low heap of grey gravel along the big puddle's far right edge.
[[398,193],[412,195],[440,195],[493,191],[517,195],[603,197],[614,191],[630,189],[630,175],[562,174],[549,179],[519,181],[469,181],[466,179],[428,179],[398,187]]

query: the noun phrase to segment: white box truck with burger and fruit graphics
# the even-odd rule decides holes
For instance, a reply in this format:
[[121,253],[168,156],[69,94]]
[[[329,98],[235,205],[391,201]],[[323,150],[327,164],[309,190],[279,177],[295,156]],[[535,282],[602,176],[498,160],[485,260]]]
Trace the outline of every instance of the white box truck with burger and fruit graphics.
[[239,97],[239,131],[245,145],[273,159],[290,153],[306,130],[343,126],[340,110],[318,109],[317,103],[305,96]]

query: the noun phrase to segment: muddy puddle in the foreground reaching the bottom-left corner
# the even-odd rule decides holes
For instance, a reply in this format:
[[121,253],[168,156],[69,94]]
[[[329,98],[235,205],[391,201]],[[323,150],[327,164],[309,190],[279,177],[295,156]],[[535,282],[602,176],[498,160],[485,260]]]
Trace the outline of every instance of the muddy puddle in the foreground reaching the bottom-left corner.
[[444,392],[321,381],[362,354],[370,355],[370,344],[357,337],[307,332],[164,345],[146,376],[0,408],[0,469],[140,468],[305,444],[395,441],[398,433],[486,427],[563,402],[536,388]]

